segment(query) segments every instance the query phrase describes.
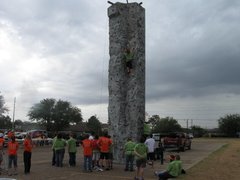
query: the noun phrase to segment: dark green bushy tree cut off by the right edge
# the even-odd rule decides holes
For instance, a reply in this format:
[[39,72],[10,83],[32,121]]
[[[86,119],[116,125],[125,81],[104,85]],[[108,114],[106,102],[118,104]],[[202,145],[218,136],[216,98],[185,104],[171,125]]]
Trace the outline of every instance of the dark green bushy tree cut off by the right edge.
[[218,120],[219,130],[229,137],[235,137],[240,132],[240,115],[228,114]]

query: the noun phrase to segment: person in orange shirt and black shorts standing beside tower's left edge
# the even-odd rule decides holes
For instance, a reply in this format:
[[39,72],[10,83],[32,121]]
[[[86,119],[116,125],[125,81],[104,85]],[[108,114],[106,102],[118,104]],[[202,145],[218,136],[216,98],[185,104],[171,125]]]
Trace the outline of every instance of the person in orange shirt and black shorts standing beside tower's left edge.
[[100,160],[99,164],[103,167],[103,160],[105,159],[106,170],[110,170],[109,163],[109,152],[112,140],[109,138],[108,133],[105,132],[104,136],[100,137],[98,140],[98,145],[100,147]]

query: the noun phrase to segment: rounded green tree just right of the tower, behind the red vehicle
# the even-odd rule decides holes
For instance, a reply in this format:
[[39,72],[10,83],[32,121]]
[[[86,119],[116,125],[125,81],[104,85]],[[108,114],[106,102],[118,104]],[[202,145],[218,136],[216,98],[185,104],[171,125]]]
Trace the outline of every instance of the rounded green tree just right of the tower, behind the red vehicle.
[[153,132],[168,133],[168,132],[176,132],[181,130],[182,130],[182,127],[180,124],[178,124],[176,119],[173,119],[172,117],[165,117],[157,121],[157,124],[154,127]]

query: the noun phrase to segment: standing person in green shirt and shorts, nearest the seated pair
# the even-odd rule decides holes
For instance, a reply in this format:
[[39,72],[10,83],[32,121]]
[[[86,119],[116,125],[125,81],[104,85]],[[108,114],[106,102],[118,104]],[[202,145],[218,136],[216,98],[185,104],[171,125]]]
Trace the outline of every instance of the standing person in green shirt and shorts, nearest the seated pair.
[[137,166],[137,171],[136,171],[136,176],[135,180],[143,180],[143,173],[144,173],[144,168],[146,167],[147,163],[147,153],[148,153],[148,148],[144,144],[146,138],[144,136],[141,137],[140,143],[136,144],[134,147],[134,154],[136,157],[136,166]]

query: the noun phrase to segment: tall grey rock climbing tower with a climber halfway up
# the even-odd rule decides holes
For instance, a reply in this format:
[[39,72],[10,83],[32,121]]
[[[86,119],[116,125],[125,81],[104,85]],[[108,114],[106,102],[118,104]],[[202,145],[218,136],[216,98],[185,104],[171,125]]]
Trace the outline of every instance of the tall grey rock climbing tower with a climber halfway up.
[[[145,9],[139,3],[111,3],[109,17],[109,134],[114,159],[122,162],[128,137],[143,135],[145,120]],[[124,50],[134,54],[133,70],[127,73]]]

